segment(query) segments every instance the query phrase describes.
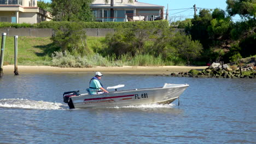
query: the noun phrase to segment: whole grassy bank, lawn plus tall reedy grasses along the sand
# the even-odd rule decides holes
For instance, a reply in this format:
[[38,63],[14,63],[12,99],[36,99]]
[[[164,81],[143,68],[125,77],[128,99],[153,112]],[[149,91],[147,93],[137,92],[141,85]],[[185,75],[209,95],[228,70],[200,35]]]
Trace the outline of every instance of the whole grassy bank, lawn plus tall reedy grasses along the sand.
[[[93,66],[159,66],[173,65],[172,62],[164,62],[159,57],[150,55],[121,56],[117,61],[114,56],[102,57],[97,55],[104,50],[106,43],[104,37],[88,37],[86,42],[90,55],[85,57],[74,57],[70,54],[59,57],[51,57],[55,48],[50,37],[19,37],[18,38],[18,64],[19,65],[53,65],[57,67],[93,67]],[[0,38],[2,40],[2,38]],[[4,49],[4,65],[14,64],[14,37],[7,37]],[[179,65],[183,65],[182,63]]]

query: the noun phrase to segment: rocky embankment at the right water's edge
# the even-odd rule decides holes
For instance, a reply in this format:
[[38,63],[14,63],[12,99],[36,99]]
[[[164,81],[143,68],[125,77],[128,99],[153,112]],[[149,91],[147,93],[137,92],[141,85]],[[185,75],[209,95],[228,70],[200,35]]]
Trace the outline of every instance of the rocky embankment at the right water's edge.
[[230,68],[228,64],[220,65],[213,63],[210,67],[202,71],[191,69],[188,73],[172,73],[171,76],[179,77],[201,77],[201,78],[225,78],[225,79],[255,79],[256,70],[253,69],[254,64],[245,65],[245,67]]

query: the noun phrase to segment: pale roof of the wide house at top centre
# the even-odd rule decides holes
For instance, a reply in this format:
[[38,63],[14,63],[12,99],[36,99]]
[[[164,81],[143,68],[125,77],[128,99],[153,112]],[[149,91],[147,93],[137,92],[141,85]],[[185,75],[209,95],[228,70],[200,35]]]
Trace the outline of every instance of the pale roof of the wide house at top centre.
[[[110,0],[108,4],[104,3],[104,0],[95,0],[91,6],[91,8],[107,8],[110,7]],[[162,5],[156,4],[149,4],[149,3],[142,3],[142,2],[135,2],[128,3],[128,0],[114,0],[113,8],[164,8]]]

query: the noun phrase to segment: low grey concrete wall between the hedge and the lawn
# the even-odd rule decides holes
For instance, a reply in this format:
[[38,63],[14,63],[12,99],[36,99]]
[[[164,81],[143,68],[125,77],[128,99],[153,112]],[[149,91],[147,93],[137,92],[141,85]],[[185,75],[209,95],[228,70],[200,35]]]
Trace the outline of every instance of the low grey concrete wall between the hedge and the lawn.
[[[31,37],[51,37],[51,28],[0,28],[0,33],[7,33],[7,36],[31,36]],[[105,37],[107,33],[114,33],[112,28],[86,28],[86,35],[95,37]]]

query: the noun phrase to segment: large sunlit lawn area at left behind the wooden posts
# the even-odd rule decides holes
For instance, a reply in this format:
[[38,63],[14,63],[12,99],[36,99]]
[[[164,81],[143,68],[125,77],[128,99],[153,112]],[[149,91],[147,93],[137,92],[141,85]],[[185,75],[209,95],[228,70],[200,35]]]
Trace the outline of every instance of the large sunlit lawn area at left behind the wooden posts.
[[[2,41],[2,37],[0,38]],[[20,65],[50,65],[51,57],[46,49],[51,45],[50,38],[19,37],[18,64]],[[5,64],[14,64],[14,37],[6,37],[4,49]]]

